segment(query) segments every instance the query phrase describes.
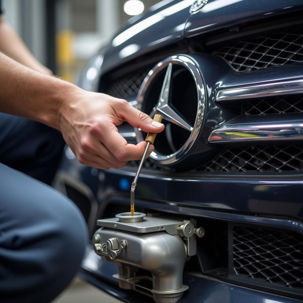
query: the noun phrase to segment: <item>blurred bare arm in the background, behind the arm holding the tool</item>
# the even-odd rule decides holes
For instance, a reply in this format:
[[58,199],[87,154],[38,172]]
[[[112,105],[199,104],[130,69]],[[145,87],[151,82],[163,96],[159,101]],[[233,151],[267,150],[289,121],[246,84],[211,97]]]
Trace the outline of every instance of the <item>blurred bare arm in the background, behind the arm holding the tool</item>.
[[5,22],[2,15],[0,15],[0,51],[35,71],[52,75],[52,71],[32,55],[19,35]]

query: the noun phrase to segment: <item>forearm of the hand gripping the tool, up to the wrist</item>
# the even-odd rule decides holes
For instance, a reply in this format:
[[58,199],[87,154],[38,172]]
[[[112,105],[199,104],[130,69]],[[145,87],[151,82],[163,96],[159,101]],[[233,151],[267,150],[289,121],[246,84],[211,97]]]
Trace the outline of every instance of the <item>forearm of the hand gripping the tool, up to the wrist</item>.
[[59,129],[59,113],[68,94],[81,90],[43,75],[0,53],[0,112],[19,115]]

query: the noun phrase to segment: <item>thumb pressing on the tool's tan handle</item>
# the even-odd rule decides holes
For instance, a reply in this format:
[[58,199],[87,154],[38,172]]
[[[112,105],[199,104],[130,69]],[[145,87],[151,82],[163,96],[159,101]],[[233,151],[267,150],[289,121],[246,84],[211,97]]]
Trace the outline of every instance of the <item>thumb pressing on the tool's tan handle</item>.
[[139,111],[131,105],[127,106],[123,118],[130,125],[141,128],[143,132],[158,133],[162,132],[164,129],[163,123],[154,121],[149,115]]

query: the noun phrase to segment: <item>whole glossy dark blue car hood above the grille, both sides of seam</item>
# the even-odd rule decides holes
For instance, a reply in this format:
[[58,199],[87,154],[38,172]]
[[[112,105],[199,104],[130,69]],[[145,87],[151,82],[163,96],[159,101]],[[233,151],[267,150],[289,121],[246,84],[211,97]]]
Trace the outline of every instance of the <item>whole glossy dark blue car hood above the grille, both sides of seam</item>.
[[145,52],[203,32],[303,9],[301,0],[209,0],[198,12],[194,0],[164,0],[129,20],[107,46],[102,74]]

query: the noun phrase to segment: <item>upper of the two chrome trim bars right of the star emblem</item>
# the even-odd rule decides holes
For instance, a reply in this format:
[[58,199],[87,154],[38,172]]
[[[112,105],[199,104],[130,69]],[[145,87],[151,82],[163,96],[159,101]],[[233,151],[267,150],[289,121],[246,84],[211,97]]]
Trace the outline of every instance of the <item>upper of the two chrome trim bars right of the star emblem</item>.
[[303,93],[303,79],[221,89],[217,92],[215,100],[224,103],[230,100],[301,93]]

